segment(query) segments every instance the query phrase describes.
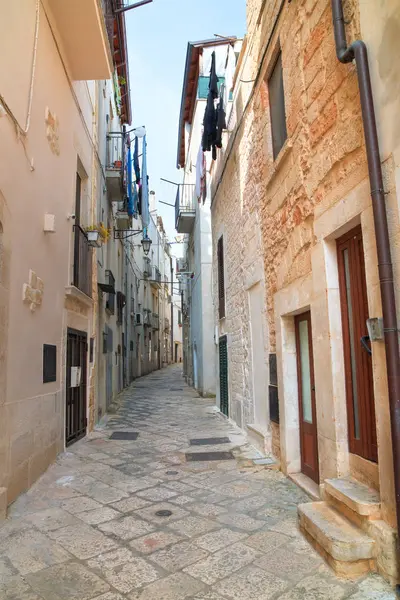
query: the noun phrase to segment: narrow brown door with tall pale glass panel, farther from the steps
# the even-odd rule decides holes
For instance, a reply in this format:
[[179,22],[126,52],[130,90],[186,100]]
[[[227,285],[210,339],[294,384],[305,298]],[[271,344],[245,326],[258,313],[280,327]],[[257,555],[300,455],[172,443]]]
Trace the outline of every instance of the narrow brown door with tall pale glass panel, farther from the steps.
[[317,411],[315,406],[314,357],[311,313],[295,318],[301,471],[319,483]]

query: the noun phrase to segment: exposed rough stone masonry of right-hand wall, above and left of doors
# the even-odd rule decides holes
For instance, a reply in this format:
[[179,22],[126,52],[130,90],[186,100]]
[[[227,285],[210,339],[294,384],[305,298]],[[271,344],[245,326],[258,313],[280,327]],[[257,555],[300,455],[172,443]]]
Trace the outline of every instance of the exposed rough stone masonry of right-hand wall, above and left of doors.
[[[350,41],[360,32],[357,1],[344,3]],[[278,0],[247,1],[247,56],[242,77],[253,80],[260,68],[262,73],[247,109],[251,84],[243,83],[237,94],[236,138],[230,136],[228,149],[215,167],[212,186],[214,257],[217,238],[224,232],[227,316],[222,328],[231,336],[232,417],[239,425],[249,422],[253,410],[244,289],[252,235],[257,235],[257,227],[261,230],[262,239],[251,248],[254,263],[260,257],[264,260],[266,347],[274,351],[274,294],[310,273],[314,215],[367,177],[357,76],[354,65],[342,65],[336,58],[330,1],[286,3],[266,50],[280,5]],[[279,47],[288,140],[274,161],[266,79]],[[214,261],[214,281],[216,277]],[[216,289],[214,303],[217,307]],[[267,364],[266,357],[266,368]]]

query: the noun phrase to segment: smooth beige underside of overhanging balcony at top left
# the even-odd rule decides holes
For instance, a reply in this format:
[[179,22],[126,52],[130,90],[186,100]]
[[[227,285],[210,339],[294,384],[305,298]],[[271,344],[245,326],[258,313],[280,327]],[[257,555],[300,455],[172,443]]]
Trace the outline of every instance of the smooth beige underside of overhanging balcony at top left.
[[72,78],[110,79],[113,58],[106,22],[111,32],[111,0],[48,0],[48,5]]

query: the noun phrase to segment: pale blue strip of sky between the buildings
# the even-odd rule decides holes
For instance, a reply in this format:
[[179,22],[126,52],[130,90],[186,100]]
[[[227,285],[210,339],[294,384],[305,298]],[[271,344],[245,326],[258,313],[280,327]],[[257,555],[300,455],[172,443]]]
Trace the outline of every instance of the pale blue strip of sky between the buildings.
[[172,241],[175,211],[159,201],[174,204],[176,188],[160,178],[182,181],[176,155],[187,44],[214,34],[243,37],[246,0],[153,0],[125,19],[132,126],[146,127],[150,190]]

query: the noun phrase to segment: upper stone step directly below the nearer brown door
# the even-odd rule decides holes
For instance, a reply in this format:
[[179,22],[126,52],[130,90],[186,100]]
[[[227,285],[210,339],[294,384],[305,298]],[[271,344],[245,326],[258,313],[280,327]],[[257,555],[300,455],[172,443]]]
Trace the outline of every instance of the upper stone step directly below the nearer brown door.
[[358,526],[362,526],[364,519],[381,517],[379,493],[351,477],[326,479],[325,498],[336,510],[342,512]]

